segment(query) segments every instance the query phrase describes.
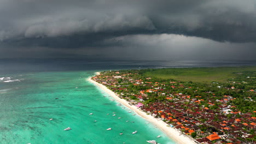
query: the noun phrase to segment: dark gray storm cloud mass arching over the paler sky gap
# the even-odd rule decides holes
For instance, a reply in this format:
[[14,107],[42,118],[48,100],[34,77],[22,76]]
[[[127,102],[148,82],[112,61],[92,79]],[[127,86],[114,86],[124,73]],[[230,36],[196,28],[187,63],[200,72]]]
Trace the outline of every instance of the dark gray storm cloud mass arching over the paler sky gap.
[[121,35],[167,33],[255,42],[255,6],[254,0],[0,0],[0,40],[83,47]]

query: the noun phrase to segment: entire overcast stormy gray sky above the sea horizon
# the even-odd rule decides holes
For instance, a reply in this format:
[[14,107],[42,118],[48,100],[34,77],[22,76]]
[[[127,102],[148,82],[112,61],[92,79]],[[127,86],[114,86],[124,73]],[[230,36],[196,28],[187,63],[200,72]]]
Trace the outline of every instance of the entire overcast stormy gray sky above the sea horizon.
[[0,0],[0,57],[256,59],[255,0]]

